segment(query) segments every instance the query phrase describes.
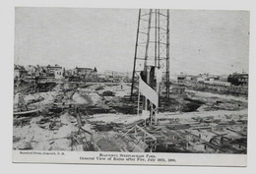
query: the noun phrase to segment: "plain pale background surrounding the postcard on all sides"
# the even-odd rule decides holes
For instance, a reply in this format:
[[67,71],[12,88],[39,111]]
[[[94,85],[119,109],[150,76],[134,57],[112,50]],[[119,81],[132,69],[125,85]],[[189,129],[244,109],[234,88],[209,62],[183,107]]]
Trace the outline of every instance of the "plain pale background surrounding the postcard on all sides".
[[[1,22],[1,169],[8,173],[255,173],[255,3],[253,0],[2,0],[0,5]],[[149,167],[149,166],[101,166],[87,165],[42,165],[13,164],[12,161],[12,102],[13,102],[13,56],[14,56],[14,8],[15,6],[36,7],[97,7],[97,8],[169,8],[169,9],[206,9],[206,10],[249,10],[251,11],[250,38],[250,86],[249,86],[249,129],[248,129],[248,166],[245,168],[228,167]]]

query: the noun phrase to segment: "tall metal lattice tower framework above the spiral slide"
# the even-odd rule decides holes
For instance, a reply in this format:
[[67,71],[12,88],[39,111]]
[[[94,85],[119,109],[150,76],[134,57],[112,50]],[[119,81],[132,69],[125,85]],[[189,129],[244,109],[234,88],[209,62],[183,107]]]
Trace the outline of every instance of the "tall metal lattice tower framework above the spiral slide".
[[140,9],[135,45],[131,96],[137,84],[139,73],[148,67],[161,69],[165,91],[160,95],[169,97],[169,10]]

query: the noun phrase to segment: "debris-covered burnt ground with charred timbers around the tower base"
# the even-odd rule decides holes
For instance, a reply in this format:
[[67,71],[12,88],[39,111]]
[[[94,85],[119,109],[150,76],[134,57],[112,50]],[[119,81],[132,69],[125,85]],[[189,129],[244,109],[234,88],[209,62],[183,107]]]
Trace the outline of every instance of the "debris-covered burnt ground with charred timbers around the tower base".
[[[40,112],[14,114],[14,149],[122,150],[152,149],[125,132],[147,117],[137,115],[130,85],[91,83],[52,91],[18,92],[29,108]],[[158,126],[144,130],[158,137],[155,151],[246,153],[247,99],[243,96],[186,90],[160,98]],[[142,126],[143,127],[143,126]],[[140,129],[140,128],[139,128]],[[132,139],[132,140],[131,140]]]

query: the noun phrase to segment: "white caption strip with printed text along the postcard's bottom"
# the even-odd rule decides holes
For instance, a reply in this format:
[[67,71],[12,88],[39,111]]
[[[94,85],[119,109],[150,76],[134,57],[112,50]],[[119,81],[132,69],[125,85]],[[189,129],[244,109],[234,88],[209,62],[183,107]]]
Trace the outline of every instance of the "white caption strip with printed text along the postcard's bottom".
[[[136,155],[143,155],[143,157],[136,157]],[[246,161],[246,154],[13,150],[13,162],[30,163],[200,165],[244,167],[246,166]]]

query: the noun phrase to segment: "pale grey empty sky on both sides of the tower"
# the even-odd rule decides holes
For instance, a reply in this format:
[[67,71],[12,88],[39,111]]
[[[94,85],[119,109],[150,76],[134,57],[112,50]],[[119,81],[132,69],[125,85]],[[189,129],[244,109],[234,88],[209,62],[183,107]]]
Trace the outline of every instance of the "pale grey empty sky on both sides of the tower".
[[[132,72],[138,9],[25,8],[15,13],[21,65]],[[170,74],[248,72],[249,13],[170,10]]]

